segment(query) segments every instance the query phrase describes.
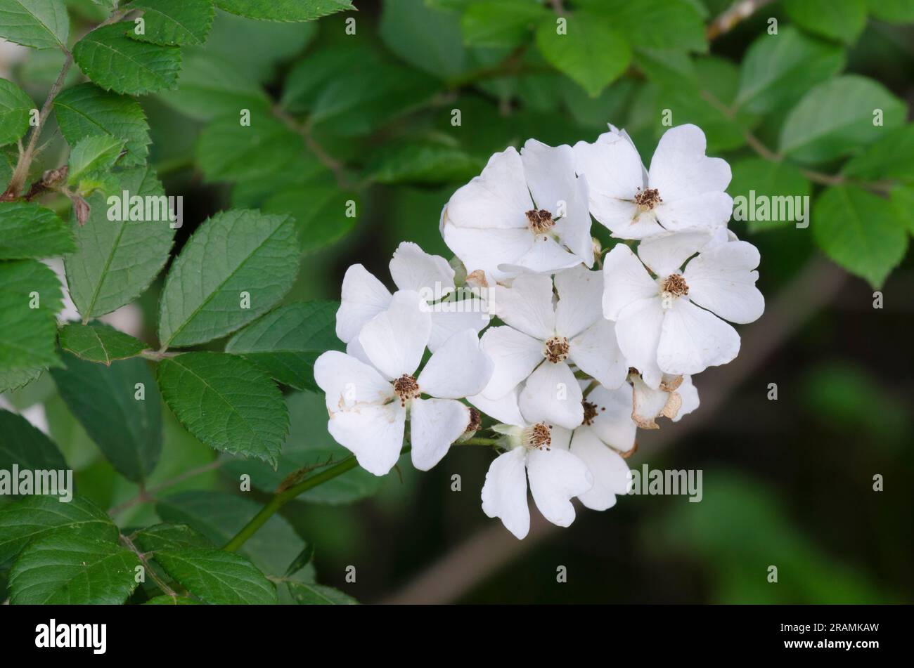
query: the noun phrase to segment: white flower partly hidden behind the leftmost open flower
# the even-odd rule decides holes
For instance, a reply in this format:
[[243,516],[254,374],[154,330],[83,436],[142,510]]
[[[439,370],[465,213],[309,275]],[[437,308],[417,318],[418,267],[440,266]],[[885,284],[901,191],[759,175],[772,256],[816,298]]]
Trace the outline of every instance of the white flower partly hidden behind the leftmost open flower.
[[[425,301],[438,301],[452,293],[454,270],[443,257],[432,256],[419,245],[403,242],[390,260],[390,276],[400,290],[414,290]],[[336,311],[336,336],[344,343],[357,340],[368,320],[388,308],[390,291],[362,265],[346,269],[340,308]],[[476,302],[470,304],[469,302]],[[454,332],[473,329],[476,333],[489,323],[483,301],[445,301],[430,306],[429,350],[434,352]],[[346,349],[360,359],[357,344]]]

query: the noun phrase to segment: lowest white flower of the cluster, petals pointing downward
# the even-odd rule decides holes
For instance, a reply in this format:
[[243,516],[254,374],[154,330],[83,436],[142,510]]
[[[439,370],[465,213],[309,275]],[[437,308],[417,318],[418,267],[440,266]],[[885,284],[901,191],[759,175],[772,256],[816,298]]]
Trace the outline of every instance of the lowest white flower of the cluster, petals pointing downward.
[[485,474],[483,512],[498,517],[517,538],[530,530],[526,480],[539,512],[559,527],[569,527],[575,511],[571,498],[590,489],[593,477],[587,466],[569,453],[570,432],[546,423],[524,426],[496,425],[509,447],[498,455]]

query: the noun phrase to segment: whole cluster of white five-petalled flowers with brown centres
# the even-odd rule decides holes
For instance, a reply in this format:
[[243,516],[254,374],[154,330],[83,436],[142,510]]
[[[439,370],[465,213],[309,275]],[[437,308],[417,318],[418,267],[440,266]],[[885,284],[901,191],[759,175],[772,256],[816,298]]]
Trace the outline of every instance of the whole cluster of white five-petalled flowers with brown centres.
[[[314,365],[336,441],[375,475],[397,463],[407,422],[421,470],[454,443],[493,444],[483,510],[517,538],[527,481],[561,527],[574,497],[613,506],[637,429],[694,411],[691,377],[733,360],[729,322],[764,309],[759,252],[727,229],[730,168],[705,152],[694,125],[667,130],[650,169],[612,126],[573,147],[529,140],[445,205],[451,262],[404,242],[393,293],[349,267],[336,316],[346,352]],[[608,253],[591,216],[620,240]],[[492,439],[474,438],[483,415]]]

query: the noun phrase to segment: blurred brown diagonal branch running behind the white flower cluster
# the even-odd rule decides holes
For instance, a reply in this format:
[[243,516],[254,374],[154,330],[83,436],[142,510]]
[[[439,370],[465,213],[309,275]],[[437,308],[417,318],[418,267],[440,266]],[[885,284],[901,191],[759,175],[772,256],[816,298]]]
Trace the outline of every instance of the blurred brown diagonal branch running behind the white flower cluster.
[[[702,373],[701,410],[683,422],[644,433],[641,452],[656,454],[709,423],[739,385],[759,371],[771,354],[791,339],[819,309],[834,300],[848,279],[837,266],[821,256],[813,257],[769,305],[760,320],[745,329],[742,354],[726,366],[713,367]],[[491,522],[382,602],[448,603],[459,599],[479,582],[558,531],[559,527],[539,514],[531,514],[529,534],[524,540],[517,540],[500,523]]]

